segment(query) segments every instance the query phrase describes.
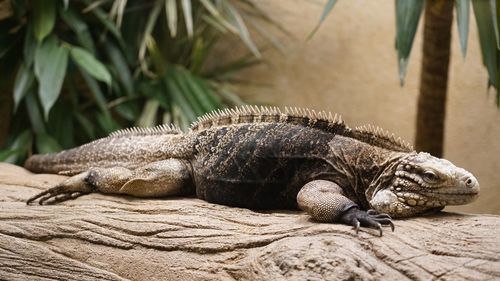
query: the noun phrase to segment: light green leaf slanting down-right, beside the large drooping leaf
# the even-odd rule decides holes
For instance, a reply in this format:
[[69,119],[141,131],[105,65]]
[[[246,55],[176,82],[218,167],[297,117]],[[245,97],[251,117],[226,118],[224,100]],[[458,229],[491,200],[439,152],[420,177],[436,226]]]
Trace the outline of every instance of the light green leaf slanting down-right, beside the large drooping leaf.
[[88,74],[111,86],[111,74],[94,55],[80,47],[71,47],[70,54],[71,58]]

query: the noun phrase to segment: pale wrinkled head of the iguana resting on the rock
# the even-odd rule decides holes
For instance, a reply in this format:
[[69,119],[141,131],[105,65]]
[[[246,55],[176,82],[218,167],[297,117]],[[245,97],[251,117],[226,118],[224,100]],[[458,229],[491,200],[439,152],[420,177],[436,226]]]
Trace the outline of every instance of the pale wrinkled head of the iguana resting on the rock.
[[428,153],[411,153],[392,168],[389,185],[370,200],[372,208],[393,217],[408,217],[463,205],[478,197],[479,182],[468,171]]

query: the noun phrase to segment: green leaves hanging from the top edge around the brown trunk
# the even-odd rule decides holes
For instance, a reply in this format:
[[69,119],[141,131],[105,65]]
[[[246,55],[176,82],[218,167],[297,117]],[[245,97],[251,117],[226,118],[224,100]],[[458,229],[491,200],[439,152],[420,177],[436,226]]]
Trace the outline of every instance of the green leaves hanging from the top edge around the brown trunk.
[[[332,10],[336,0],[328,0],[325,4],[318,26]],[[396,0],[396,49],[398,52],[399,78],[404,84],[406,67],[413,46],[413,39],[417,31],[422,11],[423,0]],[[498,65],[497,55],[500,52],[497,5],[494,0],[455,0],[457,12],[457,27],[460,36],[460,46],[465,57],[469,34],[469,7],[472,2],[476,24],[479,31],[479,41],[483,55],[483,64],[488,71],[488,85],[497,90],[497,106],[500,106],[498,92]],[[317,29],[317,28],[316,28]],[[313,33],[316,31],[313,31]]]

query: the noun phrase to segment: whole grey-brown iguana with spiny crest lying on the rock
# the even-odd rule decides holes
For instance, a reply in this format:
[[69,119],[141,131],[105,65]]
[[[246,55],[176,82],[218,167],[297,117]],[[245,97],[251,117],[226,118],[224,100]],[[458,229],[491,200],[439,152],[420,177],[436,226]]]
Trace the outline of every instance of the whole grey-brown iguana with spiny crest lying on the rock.
[[173,125],[132,128],[25,167],[72,175],[30,198],[57,203],[99,191],[137,197],[196,194],[249,209],[296,209],[320,222],[376,228],[473,201],[466,170],[417,153],[372,126],[309,109],[243,106],[199,117],[187,133]]

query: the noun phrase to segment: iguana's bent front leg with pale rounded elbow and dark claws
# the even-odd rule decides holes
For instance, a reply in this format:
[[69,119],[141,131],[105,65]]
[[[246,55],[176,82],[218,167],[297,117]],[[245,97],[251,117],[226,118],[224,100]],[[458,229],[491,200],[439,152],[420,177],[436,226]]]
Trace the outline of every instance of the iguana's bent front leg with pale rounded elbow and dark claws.
[[352,225],[356,233],[360,226],[376,228],[381,236],[382,225],[390,225],[394,231],[389,215],[359,209],[356,203],[344,196],[342,188],[331,181],[315,180],[305,184],[297,194],[297,203],[314,220]]

